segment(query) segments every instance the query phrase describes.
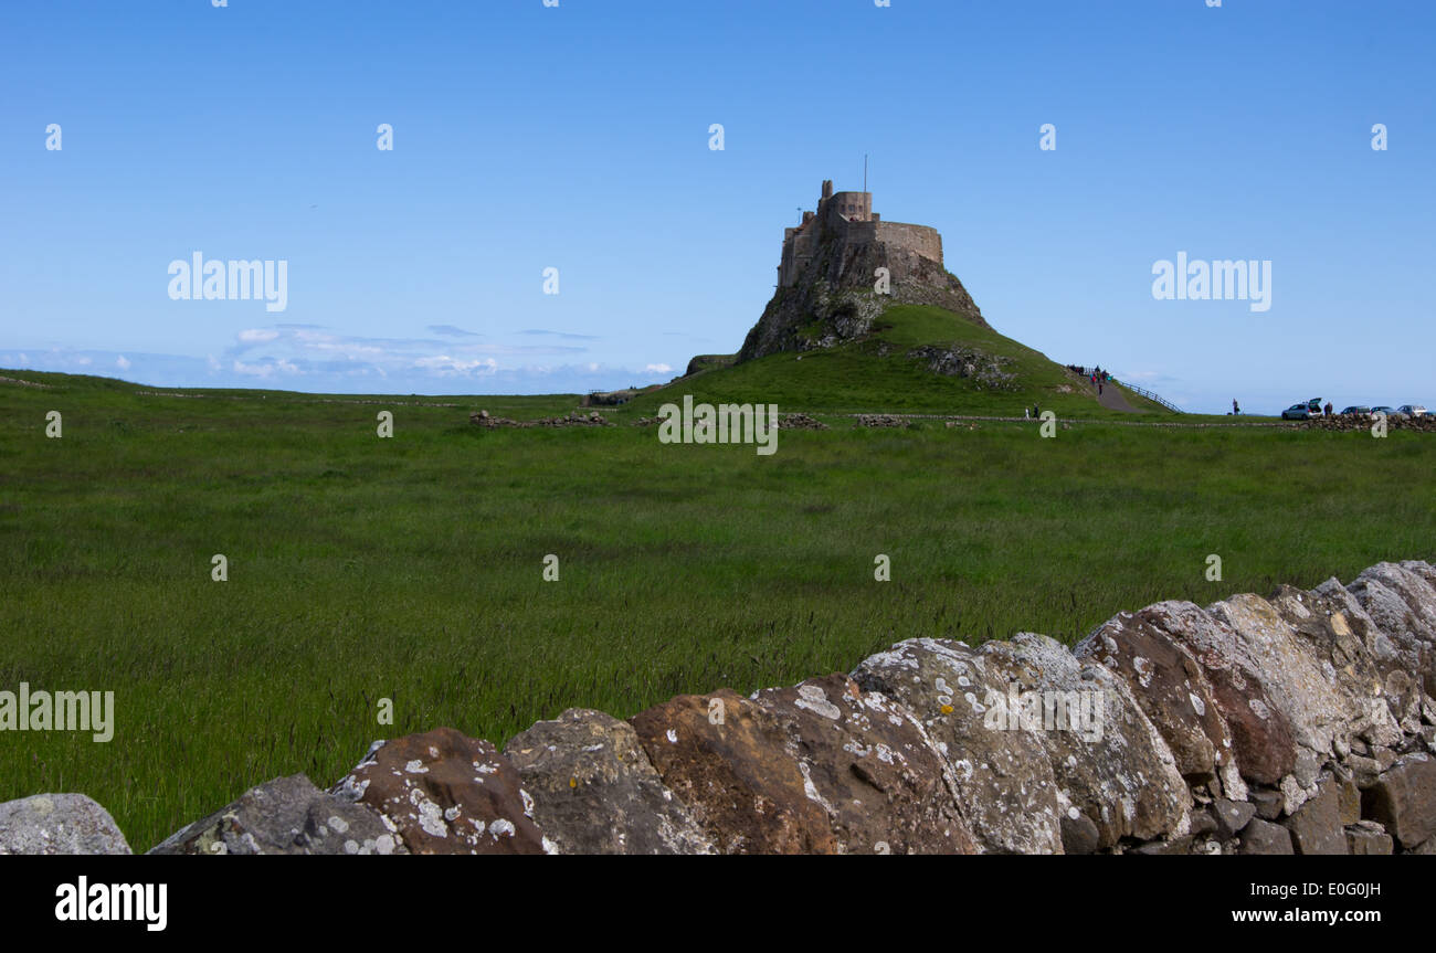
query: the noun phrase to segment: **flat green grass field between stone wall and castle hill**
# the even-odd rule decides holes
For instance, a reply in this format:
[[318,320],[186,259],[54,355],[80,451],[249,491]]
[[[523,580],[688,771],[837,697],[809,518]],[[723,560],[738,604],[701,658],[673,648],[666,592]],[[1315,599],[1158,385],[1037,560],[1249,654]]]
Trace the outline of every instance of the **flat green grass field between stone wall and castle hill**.
[[569,706],[751,692],[906,637],[1071,642],[1162,598],[1436,555],[1436,441],[1409,432],[830,418],[758,456],[467,422],[572,395],[181,398],[0,373],[52,385],[0,382],[0,689],[116,705],[108,743],[0,732],[0,799],[82,791],[136,850],[276,775],[329,785],[375,738],[503,743]]

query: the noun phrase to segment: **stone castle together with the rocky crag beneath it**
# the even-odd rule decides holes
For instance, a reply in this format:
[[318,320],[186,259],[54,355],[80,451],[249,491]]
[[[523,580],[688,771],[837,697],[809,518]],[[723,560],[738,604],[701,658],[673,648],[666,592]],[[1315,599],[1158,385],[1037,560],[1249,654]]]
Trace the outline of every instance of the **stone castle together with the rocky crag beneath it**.
[[892,303],[931,304],[989,327],[943,266],[936,228],[883,221],[872,192],[834,192],[824,181],[817,211],[783,233],[777,290],[737,359],[862,337]]

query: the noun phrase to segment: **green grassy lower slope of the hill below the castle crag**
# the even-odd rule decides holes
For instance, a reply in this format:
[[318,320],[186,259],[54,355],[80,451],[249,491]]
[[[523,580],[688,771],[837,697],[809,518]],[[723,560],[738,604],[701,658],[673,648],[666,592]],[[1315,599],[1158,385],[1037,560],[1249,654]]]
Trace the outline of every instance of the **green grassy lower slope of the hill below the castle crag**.
[[[995,365],[1010,380],[946,376],[922,349],[976,355],[979,366]],[[979,327],[952,311],[931,306],[889,306],[869,336],[804,353],[777,353],[732,366],[708,366],[679,382],[635,399],[629,409],[653,413],[691,393],[695,400],[777,403],[781,412],[906,412],[1021,416],[1034,403],[1058,416],[1126,418],[1107,410],[1084,377],[1011,337]],[[1124,392],[1139,410],[1170,415],[1165,408]]]

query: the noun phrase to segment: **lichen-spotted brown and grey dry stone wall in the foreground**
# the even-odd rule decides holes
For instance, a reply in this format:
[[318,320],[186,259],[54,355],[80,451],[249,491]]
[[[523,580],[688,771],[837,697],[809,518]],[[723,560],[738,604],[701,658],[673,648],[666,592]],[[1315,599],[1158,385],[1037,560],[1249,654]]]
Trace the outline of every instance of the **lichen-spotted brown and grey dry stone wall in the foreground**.
[[[912,639],[751,696],[511,738],[375,742],[279,778],[184,854],[1436,853],[1436,568],[1122,613],[1076,649]],[[0,853],[128,853],[82,795],[0,805]]]

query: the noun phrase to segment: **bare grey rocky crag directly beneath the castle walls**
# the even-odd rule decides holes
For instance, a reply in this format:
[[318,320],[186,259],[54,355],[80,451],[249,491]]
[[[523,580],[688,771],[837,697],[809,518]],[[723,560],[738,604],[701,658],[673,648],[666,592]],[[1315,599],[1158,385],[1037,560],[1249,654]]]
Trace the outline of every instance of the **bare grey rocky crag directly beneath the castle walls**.
[[[875,291],[887,268],[889,294]],[[853,243],[826,234],[796,284],[780,287],[748,332],[738,360],[784,350],[831,347],[866,334],[889,303],[932,304],[989,327],[962,283],[939,263],[883,241]]]

